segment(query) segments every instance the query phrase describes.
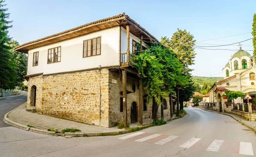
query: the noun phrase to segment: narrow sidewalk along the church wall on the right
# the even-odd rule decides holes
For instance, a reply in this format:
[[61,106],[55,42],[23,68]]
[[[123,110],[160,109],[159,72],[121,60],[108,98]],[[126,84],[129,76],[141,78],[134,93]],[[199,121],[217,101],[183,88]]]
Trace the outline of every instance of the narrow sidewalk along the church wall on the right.
[[230,117],[234,118],[238,122],[244,124],[245,126],[247,126],[248,128],[250,128],[250,129],[252,129],[253,131],[256,132],[256,121],[247,121],[245,118],[243,118],[243,117],[241,117],[239,115],[233,114],[233,113],[217,112],[215,110],[210,110],[210,109],[205,109],[205,108],[200,108],[200,109],[203,109],[203,110],[206,110],[206,111],[210,111],[210,112],[219,113],[219,114],[222,114],[222,115],[229,115]]

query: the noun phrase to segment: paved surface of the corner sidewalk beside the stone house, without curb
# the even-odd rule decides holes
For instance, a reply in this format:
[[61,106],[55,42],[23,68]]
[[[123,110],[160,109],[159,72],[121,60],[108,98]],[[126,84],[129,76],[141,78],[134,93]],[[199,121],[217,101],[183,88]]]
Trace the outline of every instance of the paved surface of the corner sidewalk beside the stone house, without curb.
[[8,114],[8,118],[11,121],[22,125],[32,125],[37,129],[45,130],[50,128],[58,129],[61,131],[66,128],[76,128],[80,129],[84,133],[107,133],[107,132],[118,132],[121,129],[116,128],[104,128],[100,126],[92,126],[84,123],[79,123],[75,121],[69,121],[61,118],[55,118],[47,115],[42,115],[38,113],[27,112],[25,109],[26,103],[22,104],[17,109],[13,110]]

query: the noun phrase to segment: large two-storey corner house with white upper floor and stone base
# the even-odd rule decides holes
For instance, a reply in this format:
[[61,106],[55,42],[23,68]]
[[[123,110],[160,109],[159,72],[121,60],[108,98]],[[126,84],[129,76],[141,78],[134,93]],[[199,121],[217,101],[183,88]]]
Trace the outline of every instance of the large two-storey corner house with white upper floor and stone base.
[[28,109],[105,127],[151,122],[154,112],[169,118],[174,99],[167,96],[158,111],[154,100],[146,105],[133,65],[134,53],[149,48],[150,40],[157,41],[119,14],[17,46],[28,54]]

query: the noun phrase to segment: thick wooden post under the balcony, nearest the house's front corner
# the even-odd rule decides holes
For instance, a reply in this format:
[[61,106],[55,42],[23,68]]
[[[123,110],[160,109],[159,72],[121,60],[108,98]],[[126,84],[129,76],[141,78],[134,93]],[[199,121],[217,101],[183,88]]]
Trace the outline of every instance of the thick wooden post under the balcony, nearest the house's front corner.
[[122,85],[123,85],[123,124],[128,127],[127,123],[127,92],[126,92],[126,71],[122,70]]

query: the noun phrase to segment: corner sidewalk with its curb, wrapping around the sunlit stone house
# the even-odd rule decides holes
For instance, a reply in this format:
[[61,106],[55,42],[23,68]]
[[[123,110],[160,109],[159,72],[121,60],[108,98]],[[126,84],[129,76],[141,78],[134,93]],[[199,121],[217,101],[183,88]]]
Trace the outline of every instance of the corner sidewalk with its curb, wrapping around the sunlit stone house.
[[55,134],[55,132],[47,131],[47,129],[50,129],[52,127],[54,129],[58,129],[58,131],[73,127],[76,129],[80,129],[81,133],[84,133],[84,135],[88,135],[88,136],[116,135],[119,133],[125,133],[125,131],[122,129],[91,126],[91,125],[87,125],[87,124],[79,123],[75,121],[69,121],[61,118],[55,118],[47,115],[27,112],[25,110],[25,105],[26,103],[20,105],[16,109],[7,113],[4,117],[4,121],[20,129],[28,129],[27,125],[35,126],[36,129],[29,128],[30,131],[49,134],[49,135]]

